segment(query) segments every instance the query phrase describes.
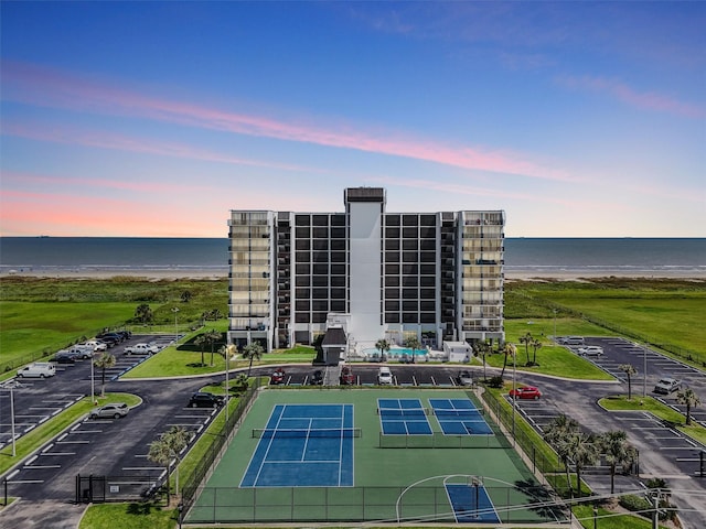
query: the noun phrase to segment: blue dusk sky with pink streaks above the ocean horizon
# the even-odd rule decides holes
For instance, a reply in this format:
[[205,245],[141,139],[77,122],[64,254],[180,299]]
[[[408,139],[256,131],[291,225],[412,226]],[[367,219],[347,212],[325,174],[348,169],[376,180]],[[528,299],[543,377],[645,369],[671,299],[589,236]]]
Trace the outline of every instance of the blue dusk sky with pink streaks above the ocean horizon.
[[0,235],[504,209],[706,236],[706,2],[0,3]]

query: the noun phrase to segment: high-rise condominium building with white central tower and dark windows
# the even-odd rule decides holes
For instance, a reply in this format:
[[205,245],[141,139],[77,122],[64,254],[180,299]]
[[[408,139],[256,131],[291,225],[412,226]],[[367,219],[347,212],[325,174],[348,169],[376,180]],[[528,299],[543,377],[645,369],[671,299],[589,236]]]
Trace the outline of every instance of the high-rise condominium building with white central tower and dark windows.
[[232,210],[228,339],[271,350],[331,327],[346,347],[503,339],[504,212],[385,202],[351,187],[341,213]]

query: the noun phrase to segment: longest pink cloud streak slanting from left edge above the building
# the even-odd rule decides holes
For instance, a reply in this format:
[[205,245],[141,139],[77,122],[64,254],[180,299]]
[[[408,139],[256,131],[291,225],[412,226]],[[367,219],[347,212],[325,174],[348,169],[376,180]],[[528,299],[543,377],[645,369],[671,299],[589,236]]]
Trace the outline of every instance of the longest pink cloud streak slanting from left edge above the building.
[[7,85],[3,98],[30,105],[148,118],[236,134],[411,158],[469,170],[575,181],[561,171],[538,165],[516,153],[449,145],[389,131],[371,133],[351,130],[340,125],[317,126],[303,120],[301,123],[286,122],[189,102],[157,99],[28,64],[6,62],[3,83]]

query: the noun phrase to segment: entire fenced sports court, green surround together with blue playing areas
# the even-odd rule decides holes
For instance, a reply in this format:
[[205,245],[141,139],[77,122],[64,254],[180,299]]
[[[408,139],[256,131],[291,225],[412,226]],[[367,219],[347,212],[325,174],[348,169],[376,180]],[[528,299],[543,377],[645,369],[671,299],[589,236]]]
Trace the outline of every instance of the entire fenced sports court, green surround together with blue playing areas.
[[[546,490],[490,418],[483,422],[492,435],[452,435],[435,413],[463,412],[456,422],[479,422],[480,408],[462,389],[259,391],[184,521],[556,521],[560,514],[535,507]],[[385,434],[389,429],[405,433]],[[383,447],[381,438],[420,444]],[[464,476],[478,476],[482,487]]]

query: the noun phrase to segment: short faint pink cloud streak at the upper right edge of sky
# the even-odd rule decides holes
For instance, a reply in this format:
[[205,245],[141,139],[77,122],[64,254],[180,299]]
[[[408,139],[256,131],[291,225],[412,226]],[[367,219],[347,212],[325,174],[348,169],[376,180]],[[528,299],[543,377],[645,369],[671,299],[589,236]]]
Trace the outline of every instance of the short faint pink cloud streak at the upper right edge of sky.
[[645,91],[638,93],[630,86],[616,79],[601,77],[559,77],[557,82],[570,88],[607,93],[631,107],[657,112],[673,114],[686,118],[703,119],[706,109],[698,105],[678,101],[670,96]]

